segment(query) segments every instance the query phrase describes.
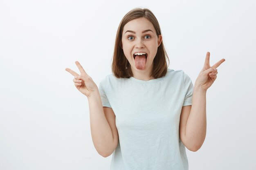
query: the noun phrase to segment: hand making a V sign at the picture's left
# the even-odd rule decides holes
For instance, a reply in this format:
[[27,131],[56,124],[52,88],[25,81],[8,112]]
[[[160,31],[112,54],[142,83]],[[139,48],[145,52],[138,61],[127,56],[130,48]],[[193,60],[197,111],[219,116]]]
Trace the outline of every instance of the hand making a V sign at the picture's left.
[[[73,82],[75,83],[76,88],[86,95],[86,97],[92,96],[92,94],[98,90],[97,85],[94,83],[92,78],[85,72],[81,64],[76,61],[76,66],[79,68],[79,71],[81,75],[77,74],[70,68],[66,68],[65,70],[68,71],[70,74],[72,74],[74,77],[77,76],[77,78],[73,79]],[[80,82],[79,82],[80,81]]]

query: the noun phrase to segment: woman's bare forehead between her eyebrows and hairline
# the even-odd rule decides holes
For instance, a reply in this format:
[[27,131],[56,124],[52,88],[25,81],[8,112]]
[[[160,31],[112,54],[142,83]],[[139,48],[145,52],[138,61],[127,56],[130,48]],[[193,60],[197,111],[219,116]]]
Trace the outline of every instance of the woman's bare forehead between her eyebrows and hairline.
[[135,31],[136,33],[141,33],[144,30],[151,29],[154,33],[156,33],[153,24],[146,18],[136,18],[127,22],[124,25],[123,33],[127,30]]

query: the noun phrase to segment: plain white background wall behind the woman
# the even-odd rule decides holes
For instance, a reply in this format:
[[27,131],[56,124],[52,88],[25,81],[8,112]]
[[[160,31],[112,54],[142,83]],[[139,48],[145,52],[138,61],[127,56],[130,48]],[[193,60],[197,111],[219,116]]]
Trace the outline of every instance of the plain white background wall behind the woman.
[[187,151],[190,170],[255,170],[256,2],[253,0],[2,0],[0,169],[109,170],[90,133],[75,61],[99,85],[111,74],[115,35],[135,7],[153,11],[169,68],[193,83],[207,51],[222,58],[207,91],[207,135]]

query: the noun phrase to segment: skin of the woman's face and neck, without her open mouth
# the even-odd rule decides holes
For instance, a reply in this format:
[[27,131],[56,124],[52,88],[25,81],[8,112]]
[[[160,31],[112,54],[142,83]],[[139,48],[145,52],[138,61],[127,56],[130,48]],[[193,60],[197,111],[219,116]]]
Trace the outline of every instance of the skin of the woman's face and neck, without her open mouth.
[[[143,33],[143,31],[149,29],[151,31]],[[126,31],[133,31],[135,33]],[[154,79],[153,77],[150,77],[150,73],[153,70],[153,60],[161,42],[162,35],[157,37],[153,24],[146,18],[131,20],[124,26],[121,48],[124,50],[124,55],[131,65],[134,78],[141,80]],[[146,67],[144,69],[137,69],[135,66],[133,54],[136,52],[144,52],[148,54]]]

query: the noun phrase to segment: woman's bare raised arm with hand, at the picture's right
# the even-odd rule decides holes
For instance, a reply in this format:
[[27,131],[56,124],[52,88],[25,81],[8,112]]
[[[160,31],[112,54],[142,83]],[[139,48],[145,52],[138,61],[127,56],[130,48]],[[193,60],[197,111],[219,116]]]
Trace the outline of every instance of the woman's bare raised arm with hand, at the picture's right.
[[204,66],[200,71],[193,90],[192,106],[183,106],[180,115],[180,139],[191,151],[201,148],[206,137],[206,92],[217,78],[217,67],[225,61],[221,59],[213,66],[207,52]]

